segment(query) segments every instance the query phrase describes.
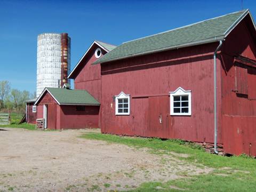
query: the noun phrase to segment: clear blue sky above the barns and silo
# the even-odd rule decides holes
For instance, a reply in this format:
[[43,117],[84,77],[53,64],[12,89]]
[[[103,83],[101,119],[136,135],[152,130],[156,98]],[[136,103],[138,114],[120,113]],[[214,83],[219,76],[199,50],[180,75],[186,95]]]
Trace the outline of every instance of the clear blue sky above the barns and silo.
[[[255,1],[244,0],[243,7],[256,17]],[[73,69],[94,39],[119,45],[241,9],[241,0],[0,0],[0,81],[35,91],[37,35],[41,33],[69,34]]]

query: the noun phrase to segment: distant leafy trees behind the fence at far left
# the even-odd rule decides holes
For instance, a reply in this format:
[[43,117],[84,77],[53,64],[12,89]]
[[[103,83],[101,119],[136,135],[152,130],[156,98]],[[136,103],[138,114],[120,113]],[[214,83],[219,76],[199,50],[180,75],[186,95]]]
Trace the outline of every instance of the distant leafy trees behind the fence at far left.
[[25,112],[26,101],[36,98],[36,92],[11,89],[9,81],[0,81],[0,110],[17,110]]

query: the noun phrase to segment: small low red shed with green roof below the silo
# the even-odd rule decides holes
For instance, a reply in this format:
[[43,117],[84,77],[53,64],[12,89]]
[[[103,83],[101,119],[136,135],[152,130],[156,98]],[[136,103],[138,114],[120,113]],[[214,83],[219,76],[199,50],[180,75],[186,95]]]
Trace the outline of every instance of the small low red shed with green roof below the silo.
[[85,90],[46,87],[35,102],[42,106],[44,129],[97,128],[100,103]]

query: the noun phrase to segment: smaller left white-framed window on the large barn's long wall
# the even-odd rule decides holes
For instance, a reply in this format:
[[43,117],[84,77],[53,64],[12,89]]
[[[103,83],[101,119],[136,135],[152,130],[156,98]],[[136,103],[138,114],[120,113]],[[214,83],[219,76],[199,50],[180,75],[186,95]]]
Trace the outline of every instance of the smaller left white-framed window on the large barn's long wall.
[[116,115],[130,115],[130,94],[115,95]]

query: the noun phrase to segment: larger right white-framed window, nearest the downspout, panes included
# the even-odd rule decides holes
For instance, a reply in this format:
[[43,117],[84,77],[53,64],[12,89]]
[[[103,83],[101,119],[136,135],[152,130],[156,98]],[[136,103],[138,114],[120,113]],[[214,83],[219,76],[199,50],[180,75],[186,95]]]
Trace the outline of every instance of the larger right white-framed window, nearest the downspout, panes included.
[[170,93],[170,115],[191,115],[191,91],[181,87]]

